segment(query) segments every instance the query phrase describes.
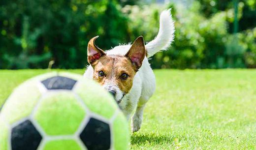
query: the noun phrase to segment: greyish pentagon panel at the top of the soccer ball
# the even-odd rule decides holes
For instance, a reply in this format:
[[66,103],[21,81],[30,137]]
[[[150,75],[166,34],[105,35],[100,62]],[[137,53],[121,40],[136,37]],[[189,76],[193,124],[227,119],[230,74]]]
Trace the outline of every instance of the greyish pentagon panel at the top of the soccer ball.
[[62,76],[56,76],[52,78],[48,78],[41,83],[46,87],[48,90],[72,90],[76,81],[73,79],[69,79]]

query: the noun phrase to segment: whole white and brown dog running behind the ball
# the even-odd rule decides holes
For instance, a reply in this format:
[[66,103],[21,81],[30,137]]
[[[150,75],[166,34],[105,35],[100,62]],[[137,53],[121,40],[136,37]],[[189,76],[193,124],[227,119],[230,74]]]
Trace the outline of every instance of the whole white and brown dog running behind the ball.
[[139,36],[133,44],[119,45],[103,51],[95,44],[98,36],[88,43],[88,62],[84,77],[93,79],[115,98],[127,119],[131,130],[140,129],[143,110],[156,89],[156,79],[148,58],[161,50],[167,50],[174,39],[174,22],[169,10],[160,14],[160,28],[156,38],[146,45]]

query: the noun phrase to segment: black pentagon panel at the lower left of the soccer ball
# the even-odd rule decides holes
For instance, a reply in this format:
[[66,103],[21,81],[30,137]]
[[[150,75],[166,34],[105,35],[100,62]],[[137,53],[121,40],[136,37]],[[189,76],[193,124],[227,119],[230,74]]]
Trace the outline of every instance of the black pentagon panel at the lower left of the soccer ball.
[[11,130],[12,150],[36,150],[42,136],[30,120],[26,120]]

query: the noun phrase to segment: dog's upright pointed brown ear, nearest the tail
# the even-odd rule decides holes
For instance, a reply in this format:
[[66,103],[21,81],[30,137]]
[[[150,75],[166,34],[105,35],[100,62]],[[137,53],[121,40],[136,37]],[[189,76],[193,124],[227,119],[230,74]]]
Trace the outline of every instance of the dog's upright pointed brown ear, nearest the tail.
[[126,57],[131,60],[136,68],[136,71],[141,67],[142,61],[145,58],[145,45],[142,36],[139,36],[131,45]]

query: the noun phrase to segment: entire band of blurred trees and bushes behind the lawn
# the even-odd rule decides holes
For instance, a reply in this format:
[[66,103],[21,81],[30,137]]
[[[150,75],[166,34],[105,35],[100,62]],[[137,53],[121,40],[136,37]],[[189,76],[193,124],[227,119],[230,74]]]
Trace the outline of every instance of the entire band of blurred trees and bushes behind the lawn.
[[256,68],[256,0],[0,0],[0,69],[50,60],[84,68],[92,37],[103,50],[139,35],[150,41],[167,8],[175,41],[150,60],[153,68]]

